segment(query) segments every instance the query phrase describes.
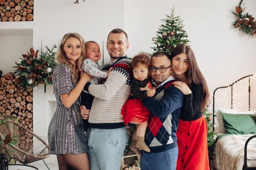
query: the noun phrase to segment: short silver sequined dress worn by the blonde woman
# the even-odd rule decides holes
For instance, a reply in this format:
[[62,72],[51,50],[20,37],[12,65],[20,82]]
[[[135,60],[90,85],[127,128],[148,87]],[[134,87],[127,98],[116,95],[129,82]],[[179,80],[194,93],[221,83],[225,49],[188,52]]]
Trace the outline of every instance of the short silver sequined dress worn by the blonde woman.
[[65,64],[58,64],[53,72],[52,84],[57,108],[48,128],[49,153],[80,154],[88,151],[85,144],[83,121],[79,107],[79,97],[70,108],[61,102],[60,96],[72,91],[76,84],[72,83],[72,71]]

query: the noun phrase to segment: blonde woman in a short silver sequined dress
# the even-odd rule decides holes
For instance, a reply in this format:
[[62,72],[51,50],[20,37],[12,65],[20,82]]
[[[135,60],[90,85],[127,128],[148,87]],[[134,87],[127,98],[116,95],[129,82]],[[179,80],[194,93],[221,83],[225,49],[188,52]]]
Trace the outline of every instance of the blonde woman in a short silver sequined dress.
[[57,108],[49,124],[50,154],[57,155],[59,170],[90,170],[80,115],[80,94],[92,77],[80,73],[85,57],[84,40],[78,33],[67,33],[56,53],[52,83]]

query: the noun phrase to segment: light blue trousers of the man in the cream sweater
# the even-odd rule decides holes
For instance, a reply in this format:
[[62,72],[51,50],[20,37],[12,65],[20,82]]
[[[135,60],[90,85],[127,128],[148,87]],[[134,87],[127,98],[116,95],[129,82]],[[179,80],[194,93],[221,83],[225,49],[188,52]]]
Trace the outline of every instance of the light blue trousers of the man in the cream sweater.
[[121,158],[128,141],[126,128],[89,128],[88,157],[91,170],[120,170]]

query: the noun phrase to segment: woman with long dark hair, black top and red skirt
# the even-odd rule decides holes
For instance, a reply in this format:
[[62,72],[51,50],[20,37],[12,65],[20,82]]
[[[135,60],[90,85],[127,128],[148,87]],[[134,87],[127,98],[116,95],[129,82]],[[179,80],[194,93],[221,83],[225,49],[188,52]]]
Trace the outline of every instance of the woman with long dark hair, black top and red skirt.
[[209,170],[207,122],[202,115],[209,101],[207,83],[192,49],[181,44],[171,51],[174,86],[184,94],[177,128],[177,170]]

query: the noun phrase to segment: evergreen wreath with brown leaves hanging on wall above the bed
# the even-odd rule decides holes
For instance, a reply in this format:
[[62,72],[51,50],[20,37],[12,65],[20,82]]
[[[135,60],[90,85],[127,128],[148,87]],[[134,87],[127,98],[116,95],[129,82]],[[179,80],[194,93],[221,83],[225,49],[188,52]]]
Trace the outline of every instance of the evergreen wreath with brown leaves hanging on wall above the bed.
[[241,0],[239,6],[236,7],[236,13],[232,12],[238,18],[233,25],[235,26],[235,28],[240,27],[240,31],[243,31],[246,35],[252,35],[253,37],[256,33],[256,21],[254,21],[252,15],[249,15],[248,13],[243,13],[245,11],[245,8],[242,9],[242,2],[243,0]]

